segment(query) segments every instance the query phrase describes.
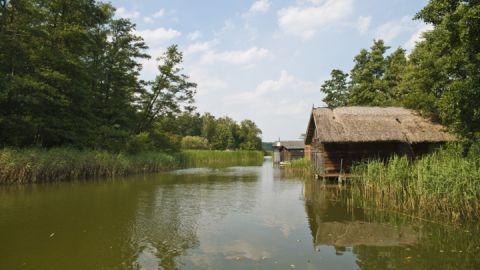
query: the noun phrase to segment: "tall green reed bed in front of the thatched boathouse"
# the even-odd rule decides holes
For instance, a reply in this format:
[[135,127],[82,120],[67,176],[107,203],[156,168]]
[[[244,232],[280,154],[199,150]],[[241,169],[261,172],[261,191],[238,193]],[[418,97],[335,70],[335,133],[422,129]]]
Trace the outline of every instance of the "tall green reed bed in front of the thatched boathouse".
[[352,168],[353,201],[364,207],[391,209],[450,221],[480,219],[480,156],[465,155],[460,145],[415,161],[394,156]]

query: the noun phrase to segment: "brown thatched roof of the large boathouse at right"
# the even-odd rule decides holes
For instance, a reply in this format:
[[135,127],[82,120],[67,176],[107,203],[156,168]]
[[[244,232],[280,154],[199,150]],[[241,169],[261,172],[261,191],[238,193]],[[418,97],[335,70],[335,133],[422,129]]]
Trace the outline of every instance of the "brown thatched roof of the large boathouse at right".
[[306,143],[317,131],[321,142],[400,141],[408,143],[445,142],[455,136],[445,128],[399,107],[339,107],[312,110]]

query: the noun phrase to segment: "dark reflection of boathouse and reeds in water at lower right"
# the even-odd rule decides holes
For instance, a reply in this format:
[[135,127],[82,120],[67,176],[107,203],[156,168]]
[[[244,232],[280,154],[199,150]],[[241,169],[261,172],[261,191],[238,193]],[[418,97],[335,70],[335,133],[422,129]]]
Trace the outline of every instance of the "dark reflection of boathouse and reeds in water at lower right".
[[305,182],[313,245],[355,256],[360,269],[479,269],[479,227],[439,224],[375,209],[353,208],[345,186]]

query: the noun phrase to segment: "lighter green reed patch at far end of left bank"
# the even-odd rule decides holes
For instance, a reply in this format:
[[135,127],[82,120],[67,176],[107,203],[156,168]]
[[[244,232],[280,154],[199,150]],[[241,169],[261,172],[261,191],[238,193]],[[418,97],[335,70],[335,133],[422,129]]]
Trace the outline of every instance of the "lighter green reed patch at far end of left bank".
[[182,167],[252,166],[263,162],[262,151],[185,150],[179,155]]

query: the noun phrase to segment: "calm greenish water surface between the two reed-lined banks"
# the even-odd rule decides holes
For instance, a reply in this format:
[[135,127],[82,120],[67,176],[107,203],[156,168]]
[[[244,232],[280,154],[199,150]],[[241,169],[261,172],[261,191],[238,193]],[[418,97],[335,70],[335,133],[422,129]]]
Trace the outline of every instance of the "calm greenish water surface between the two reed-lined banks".
[[0,269],[480,269],[480,233],[258,167],[0,188]]

